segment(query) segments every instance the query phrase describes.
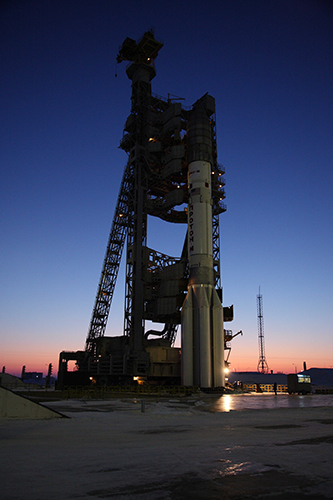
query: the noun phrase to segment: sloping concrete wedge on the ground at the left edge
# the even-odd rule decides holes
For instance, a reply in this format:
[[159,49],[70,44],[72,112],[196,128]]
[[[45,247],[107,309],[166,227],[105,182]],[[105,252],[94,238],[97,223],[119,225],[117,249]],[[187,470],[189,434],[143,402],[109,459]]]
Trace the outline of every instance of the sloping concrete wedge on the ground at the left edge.
[[50,419],[64,418],[61,413],[30,401],[10,389],[0,387],[0,418]]

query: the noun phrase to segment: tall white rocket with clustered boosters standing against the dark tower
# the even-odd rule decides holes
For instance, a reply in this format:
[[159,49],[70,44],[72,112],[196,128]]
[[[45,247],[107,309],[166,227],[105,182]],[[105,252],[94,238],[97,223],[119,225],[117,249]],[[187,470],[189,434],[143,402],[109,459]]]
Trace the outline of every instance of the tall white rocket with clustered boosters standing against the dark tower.
[[223,308],[213,268],[212,128],[200,99],[188,121],[187,147],[189,281],[181,311],[182,384],[224,387]]

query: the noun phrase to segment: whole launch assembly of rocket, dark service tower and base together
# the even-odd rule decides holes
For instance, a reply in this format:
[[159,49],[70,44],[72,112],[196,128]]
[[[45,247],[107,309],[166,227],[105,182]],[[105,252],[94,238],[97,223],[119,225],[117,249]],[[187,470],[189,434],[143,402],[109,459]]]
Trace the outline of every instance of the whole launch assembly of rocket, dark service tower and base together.
[[[154,60],[162,48],[151,31],[126,38],[117,62],[129,61],[131,113],[120,147],[128,162],[104,258],[84,351],[62,352],[59,387],[72,384],[182,383],[223,388],[224,350],[233,306],[222,306],[219,215],[224,169],[217,162],[215,100],[192,107],[153,94]],[[147,246],[147,218],[183,224],[184,245],[173,257]],[[186,231],[187,230],[187,231]],[[105,331],[124,248],[122,336]],[[146,321],[161,324],[146,330]],[[174,347],[182,325],[181,350]],[[154,327],[155,328],[155,327]],[[77,370],[68,370],[74,360]]]

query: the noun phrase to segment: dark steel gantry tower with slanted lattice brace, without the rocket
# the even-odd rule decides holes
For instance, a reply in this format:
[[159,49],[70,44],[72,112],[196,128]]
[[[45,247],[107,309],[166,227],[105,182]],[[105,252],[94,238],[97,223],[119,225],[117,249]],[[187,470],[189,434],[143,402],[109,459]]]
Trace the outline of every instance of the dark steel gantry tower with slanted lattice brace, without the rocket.
[[[117,62],[127,61],[132,82],[131,112],[120,147],[127,153],[119,196],[86,339],[85,356],[79,367],[89,371],[144,376],[149,370],[147,343],[157,337],[172,346],[181,321],[187,291],[187,236],[182,254],[172,257],[147,246],[147,218],[153,216],[187,227],[187,124],[192,107],[179,99],[152,93],[155,59],[163,43],[152,31],[135,41],[126,38]],[[215,286],[220,292],[219,215],[226,210],[224,169],[217,163],[215,100],[199,99],[209,118],[213,138],[212,238]],[[198,102],[198,101],[197,101]],[[101,349],[124,248],[126,284],[123,339],[112,352],[112,362]],[[230,308],[228,314],[230,313]],[[229,318],[230,320],[232,318]],[[160,323],[160,330],[145,331],[145,321]],[[103,359],[105,358],[104,367]],[[69,358],[71,359],[71,358]],[[111,364],[110,364],[111,363]],[[60,363],[61,364],[61,363]]]

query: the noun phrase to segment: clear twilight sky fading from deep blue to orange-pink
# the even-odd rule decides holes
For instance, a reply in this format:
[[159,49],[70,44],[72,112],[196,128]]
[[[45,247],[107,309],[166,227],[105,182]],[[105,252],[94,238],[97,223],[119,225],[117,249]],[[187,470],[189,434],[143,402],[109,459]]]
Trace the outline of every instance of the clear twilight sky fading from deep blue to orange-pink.
[[[333,367],[332,3],[115,3],[1,2],[0,369],[45,373],[84,348],[127,161],[116,55],[151,27],[164,42],[153,92],[216,99],[225,326],[244,332],[231,369],[257,369],[259,286],[269,368]],[[148,231],[180,255],[185,226]],[[122,264],[107,335],[123,331],[124,279]]]

